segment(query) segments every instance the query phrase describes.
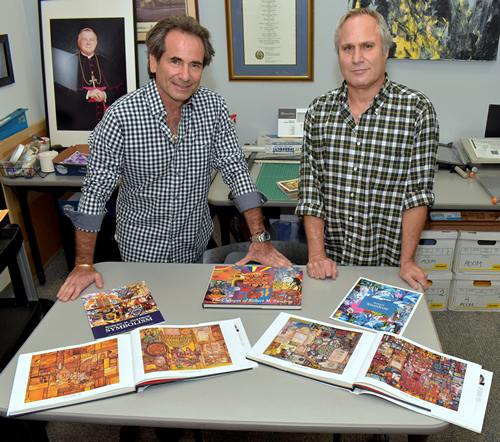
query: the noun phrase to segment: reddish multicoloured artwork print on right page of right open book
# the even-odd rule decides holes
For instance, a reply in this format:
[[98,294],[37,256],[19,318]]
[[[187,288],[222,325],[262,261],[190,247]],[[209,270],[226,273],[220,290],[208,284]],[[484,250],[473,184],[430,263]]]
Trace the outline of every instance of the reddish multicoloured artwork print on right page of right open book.
[[384,335],[366,377],[457,411],[467,364]]

